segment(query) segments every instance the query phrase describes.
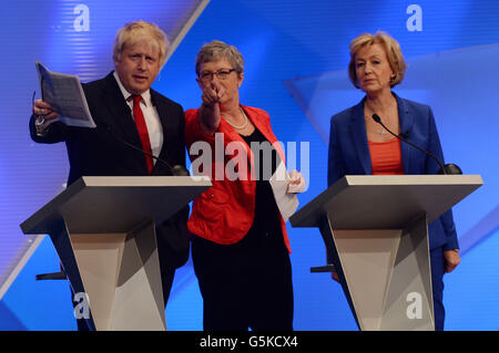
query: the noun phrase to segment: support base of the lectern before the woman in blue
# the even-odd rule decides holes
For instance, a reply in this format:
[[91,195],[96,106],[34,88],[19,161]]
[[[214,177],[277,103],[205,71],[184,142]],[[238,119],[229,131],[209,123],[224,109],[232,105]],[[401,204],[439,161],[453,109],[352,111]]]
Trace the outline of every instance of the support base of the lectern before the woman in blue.
[[360,330],[434,330],[426,215],[404,229],[320,226]]

